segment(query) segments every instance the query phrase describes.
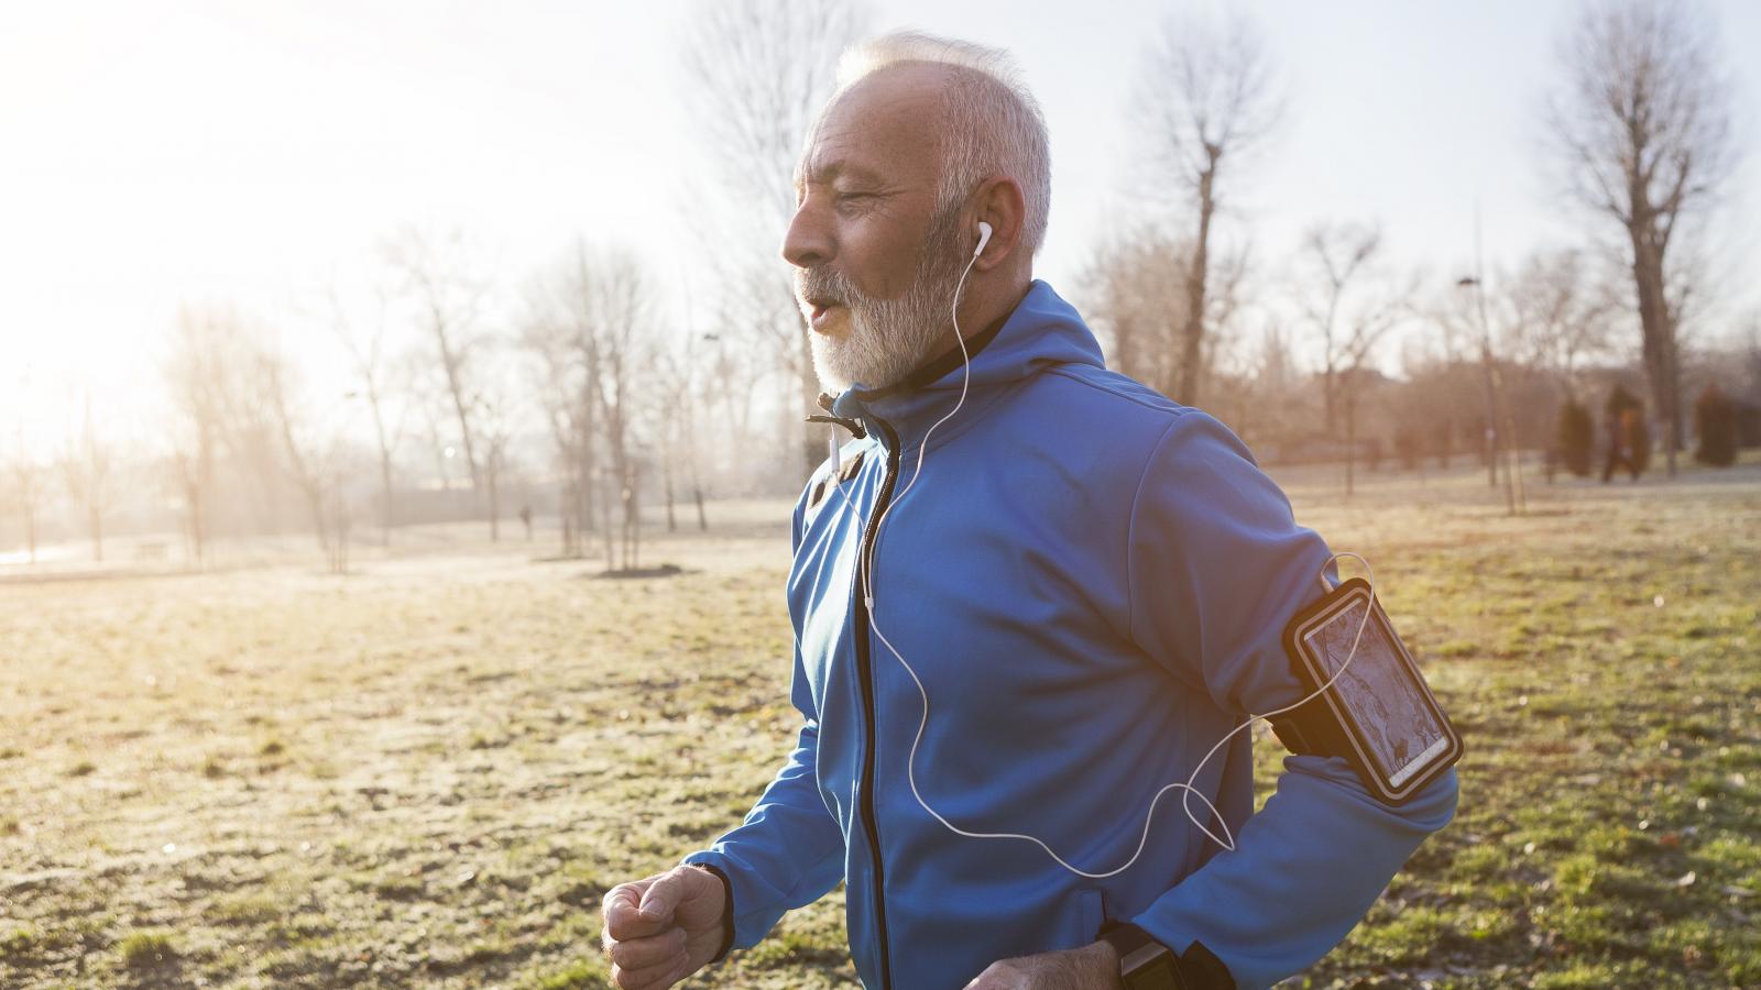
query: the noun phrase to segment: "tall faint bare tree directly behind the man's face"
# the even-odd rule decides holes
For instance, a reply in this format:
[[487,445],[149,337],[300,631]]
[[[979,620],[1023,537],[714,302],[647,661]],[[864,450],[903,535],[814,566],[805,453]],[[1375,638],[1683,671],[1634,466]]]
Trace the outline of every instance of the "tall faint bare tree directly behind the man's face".
[[[831,95],[838,53],[866,21],[856,0],[777,4],[773,0],[699,0],[683,44],[689,104],[713,157],[722,164],[731,217],[750,245],[726,255],[724,285],[731,289],[729,329],[768,344],[794,380],[794,419],[817,412],[819,379],[808,326],[794,303],[794,287],[777,261],[794,211],[794,166],[815,115]],[[713,222],[694,211],[694,224]],[[824,453],[799,426],[805,469]]]

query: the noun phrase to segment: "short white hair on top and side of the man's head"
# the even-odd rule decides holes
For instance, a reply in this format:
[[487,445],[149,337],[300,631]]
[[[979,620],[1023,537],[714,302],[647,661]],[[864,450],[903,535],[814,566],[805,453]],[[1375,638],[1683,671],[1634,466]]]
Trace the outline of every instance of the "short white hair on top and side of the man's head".
[[[990,176],[1009,176],[1027,201],[1021,240],[1037,254],[1051,211],[1051,143],[1039,100],[1021,83],[1014,58],[1000,48],[893,32],[851,46],[838,60],[838,93],[861,79],[903,63],[947,65],[947,120],[942,134],[942,183],[937,208],[949,208]],[[836,95],[833,95],[836,99]]]

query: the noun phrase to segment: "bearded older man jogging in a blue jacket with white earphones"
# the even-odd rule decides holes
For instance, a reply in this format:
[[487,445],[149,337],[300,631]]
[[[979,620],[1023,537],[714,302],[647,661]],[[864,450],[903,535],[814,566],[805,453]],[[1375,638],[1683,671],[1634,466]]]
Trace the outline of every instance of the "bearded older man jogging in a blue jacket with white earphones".
[[1280,636],[1333,553],[1034,280],[1050,155],[1002,53],[847,55],[798,190],[784,257],[849,430],[792,518],[803,722],[741,826],[606,895],[615,981],[669,986],[838,883],[875,990],[1301,971],[1456,798],[1291,756],[1254,812],[1229,733],[1305,696]]

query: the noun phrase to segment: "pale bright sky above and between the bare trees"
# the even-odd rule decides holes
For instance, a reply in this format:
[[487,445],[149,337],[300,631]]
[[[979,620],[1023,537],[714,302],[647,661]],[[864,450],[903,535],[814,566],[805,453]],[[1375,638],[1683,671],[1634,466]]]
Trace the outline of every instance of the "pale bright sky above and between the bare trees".
[[[157,446],[158,361],[181,301],[287,317],[402,227],[461,227],[509,289],[576,236],[701,284],[704,187],[680,76],[696,0],[14,4],[0,28],[0,449],[49,453],[74,396]],[[1479,204],[1488,264],[1574,240],[1539,109],[1574,5],[1247,4],[1289,81],[1286,125],[1226,222],[1275,266],[1321,218],[1379,220],[1453,280]],[[1750,157],[1722,211],[1761,271],[1761,5],[1712,0]],[[1011,49],[1043,100],[1053,217],[1039,273],[1072,294],[1129,171],[1129,93],[1166,4],[875,0],[873,26]],[[780,233],[778,233],[780,236]],[[1752,278],[1726,310],[1761,307]],[[305,328],[305,329],[303,329]],[[296,344],[298,345],[298,344]],[[335,359],[306,347],[324,373]],[[310,363],[310,361],[308,361]]]

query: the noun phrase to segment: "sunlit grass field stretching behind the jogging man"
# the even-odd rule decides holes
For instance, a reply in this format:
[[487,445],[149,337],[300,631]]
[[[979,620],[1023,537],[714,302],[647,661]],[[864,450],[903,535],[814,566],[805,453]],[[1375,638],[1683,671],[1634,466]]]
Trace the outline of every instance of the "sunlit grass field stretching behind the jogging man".
[[[1284,481],[1469,747],[1455,824],[1294,985],[1761,985],[1761,469],[1522,518],[1467,470]],[[787,506],[711,521],[653,580],[525,543],[5,569],[0,985],[602,986],[601,893],[792,742]],[[842,895],[694,983],[854,985]]]

